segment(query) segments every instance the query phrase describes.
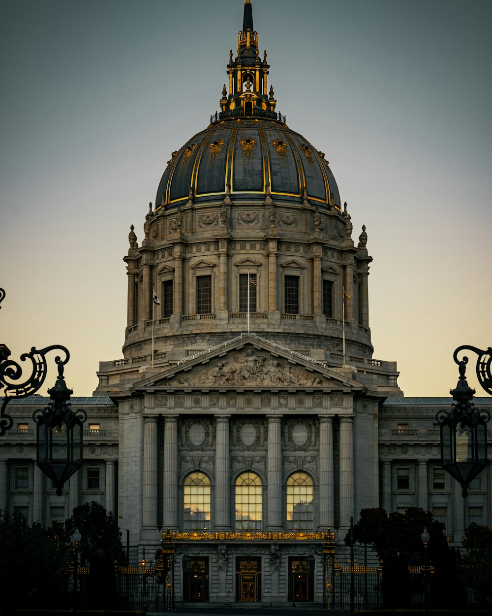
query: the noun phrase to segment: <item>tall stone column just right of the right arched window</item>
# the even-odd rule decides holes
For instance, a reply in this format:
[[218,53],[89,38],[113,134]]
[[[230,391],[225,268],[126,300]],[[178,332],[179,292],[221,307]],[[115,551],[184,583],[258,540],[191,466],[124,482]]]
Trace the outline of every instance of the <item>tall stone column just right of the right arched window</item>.
[[333,497],[333,418],[319,418],[319,529],[335,526]]

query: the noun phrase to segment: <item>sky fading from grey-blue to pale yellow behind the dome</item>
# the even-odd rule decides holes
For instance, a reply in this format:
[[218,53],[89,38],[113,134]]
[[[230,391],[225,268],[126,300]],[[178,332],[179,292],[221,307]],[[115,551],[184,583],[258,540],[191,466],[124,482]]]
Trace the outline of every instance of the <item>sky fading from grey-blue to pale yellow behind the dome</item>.
[[[74,395],[122,358],[130,225],[140,241],[170,153],[218,110],[243,5],[0,2],[0,341],[68,347]],[[373,357],[446,396],[454,349],[492,346],[492,2],[252,5],[277,110],[367,227]]]

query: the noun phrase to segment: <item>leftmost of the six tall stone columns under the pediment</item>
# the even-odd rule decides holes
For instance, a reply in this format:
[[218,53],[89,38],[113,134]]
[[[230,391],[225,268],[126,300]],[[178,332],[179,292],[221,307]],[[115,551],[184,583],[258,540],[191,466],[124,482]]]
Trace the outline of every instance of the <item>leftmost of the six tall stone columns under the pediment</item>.
[[[167,429],[167,424],[166,424]],[[143,418],[142,525],[157,528],[157,418]]]

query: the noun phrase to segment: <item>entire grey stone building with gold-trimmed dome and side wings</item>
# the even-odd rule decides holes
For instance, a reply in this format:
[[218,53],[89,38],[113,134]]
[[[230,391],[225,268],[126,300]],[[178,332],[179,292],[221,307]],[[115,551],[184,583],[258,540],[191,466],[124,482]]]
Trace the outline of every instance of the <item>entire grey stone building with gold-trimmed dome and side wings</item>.
[[322,601],[313,546],[362,508],[429,509],[452,541],[490,522],[490,469],[463,500],[439,465],[450,399],[404,398],[373,359],[365,226],[323,144],[277,111],[258,37],[247,1],[220,112],[169,154],[140,242],[130,229],[124,357],[72,400],[84,468],[58,498],[36,467],[41,397],[10,404],[0,443],[1,508],[49,524],[97,500],[134,563],[169,529],[185,602]]

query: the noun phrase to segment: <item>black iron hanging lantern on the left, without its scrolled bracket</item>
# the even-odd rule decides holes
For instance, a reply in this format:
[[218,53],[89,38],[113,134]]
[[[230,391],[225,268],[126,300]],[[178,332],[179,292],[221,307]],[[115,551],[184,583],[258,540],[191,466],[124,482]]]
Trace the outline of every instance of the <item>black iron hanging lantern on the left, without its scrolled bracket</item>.
[[83,430],[87,413],[73,411],[68,402],[72,389],[68,389],[63,377],[63,362],[58,360],[58,379],[55,387],[48,390],[53,402],[34,411],[33,419],[38,424],[36,463],[62,496],[63,484],[82,466]]

